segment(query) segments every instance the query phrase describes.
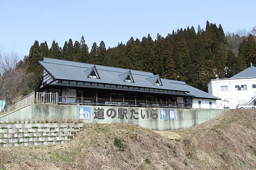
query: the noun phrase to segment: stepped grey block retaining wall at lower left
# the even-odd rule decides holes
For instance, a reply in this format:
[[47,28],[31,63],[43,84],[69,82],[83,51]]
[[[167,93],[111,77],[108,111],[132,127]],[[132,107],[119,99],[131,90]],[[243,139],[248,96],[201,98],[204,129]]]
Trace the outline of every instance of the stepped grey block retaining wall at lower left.
[[0,147],[64,144],[83,123],[0,123]]

